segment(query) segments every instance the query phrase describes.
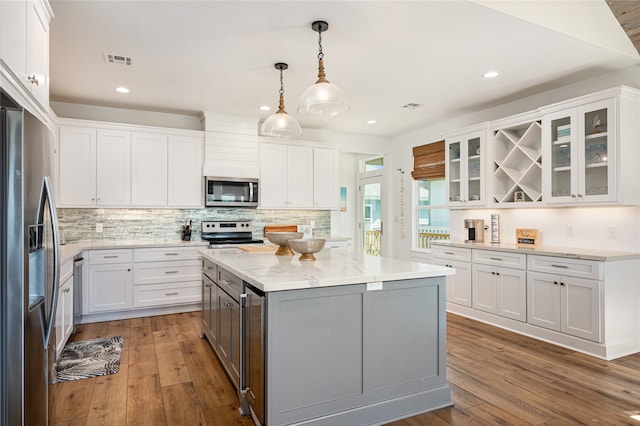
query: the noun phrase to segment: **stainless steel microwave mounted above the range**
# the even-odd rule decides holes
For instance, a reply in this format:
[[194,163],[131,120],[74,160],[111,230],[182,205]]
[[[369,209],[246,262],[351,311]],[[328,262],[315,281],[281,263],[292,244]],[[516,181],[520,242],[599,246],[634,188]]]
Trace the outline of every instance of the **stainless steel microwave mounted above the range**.
[[258,207],[258,179],[205,177],[206,207]]

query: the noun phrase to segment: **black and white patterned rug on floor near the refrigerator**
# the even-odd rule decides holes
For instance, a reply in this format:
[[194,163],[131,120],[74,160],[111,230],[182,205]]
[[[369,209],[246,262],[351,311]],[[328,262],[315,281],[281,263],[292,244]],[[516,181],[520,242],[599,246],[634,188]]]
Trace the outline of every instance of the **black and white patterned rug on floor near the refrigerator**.
[[69,342],[56,363],[57,381],[115,374],[120,370],[122,336]]

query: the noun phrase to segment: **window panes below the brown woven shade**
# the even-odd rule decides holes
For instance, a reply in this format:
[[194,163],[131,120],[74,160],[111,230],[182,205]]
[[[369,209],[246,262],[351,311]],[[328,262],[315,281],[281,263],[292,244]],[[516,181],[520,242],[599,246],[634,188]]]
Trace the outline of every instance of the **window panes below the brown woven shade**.
[[449,239],[450,212],[446,208],[445,181],[442,178],[415,181],[416,244],[431,248],[431,241]]

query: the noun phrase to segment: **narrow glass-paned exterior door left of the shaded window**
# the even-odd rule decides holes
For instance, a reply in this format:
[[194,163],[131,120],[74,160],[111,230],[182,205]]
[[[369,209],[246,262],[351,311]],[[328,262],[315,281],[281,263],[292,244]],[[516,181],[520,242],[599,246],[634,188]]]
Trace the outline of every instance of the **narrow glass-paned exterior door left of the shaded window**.
[[381,256],[383,254],[384,203],[383,175],[361,175],[360,191],[360,240],[365,254]]

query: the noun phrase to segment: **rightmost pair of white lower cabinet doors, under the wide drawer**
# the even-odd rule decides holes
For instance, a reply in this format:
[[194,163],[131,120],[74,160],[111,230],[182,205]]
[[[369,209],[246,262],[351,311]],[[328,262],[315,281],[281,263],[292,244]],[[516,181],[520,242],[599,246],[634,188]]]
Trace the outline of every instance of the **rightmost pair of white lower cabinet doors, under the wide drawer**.
[[530,324],[602,341],[601,281],[529,272],[527,285]]

